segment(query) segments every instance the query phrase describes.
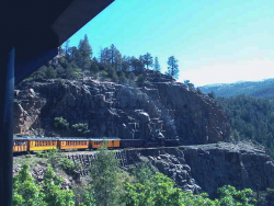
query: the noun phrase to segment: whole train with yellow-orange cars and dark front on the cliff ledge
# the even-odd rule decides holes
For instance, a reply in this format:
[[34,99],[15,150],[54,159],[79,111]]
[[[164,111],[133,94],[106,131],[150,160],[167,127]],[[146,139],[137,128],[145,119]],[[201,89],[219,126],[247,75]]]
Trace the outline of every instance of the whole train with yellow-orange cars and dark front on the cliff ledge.
[[81,138],[81,137],[13,137],[13,152],[44,151],[50,149],[98,149],[106,141],[107,148],[142,148],[179,146],[179,139],[119,139],[109,138]]

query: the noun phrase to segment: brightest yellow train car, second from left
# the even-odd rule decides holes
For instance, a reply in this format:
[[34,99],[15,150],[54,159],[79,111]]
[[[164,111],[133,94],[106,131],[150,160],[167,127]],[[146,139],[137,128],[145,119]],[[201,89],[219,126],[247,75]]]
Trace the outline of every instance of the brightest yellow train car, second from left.
[[28,151],[57,149],[57,138],[28,138]]

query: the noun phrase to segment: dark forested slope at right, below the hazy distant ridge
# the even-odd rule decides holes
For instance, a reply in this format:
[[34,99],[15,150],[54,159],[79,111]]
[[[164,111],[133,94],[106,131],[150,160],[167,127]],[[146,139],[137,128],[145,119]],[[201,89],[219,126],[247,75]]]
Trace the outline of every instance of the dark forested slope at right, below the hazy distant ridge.
[[232,136],[255,140],[274,157],[274,101],[248,95],[217,100],[228,115]]

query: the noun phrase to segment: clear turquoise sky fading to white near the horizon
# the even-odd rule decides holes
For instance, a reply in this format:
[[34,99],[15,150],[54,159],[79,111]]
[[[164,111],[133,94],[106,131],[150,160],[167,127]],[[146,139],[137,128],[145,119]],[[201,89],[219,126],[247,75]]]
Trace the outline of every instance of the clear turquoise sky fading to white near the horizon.
[[149,52],[162,71],[179,59],[179,81],[196,87],[274,78],[273,0],[116,0],[70,38],[89,36],[93,56]]

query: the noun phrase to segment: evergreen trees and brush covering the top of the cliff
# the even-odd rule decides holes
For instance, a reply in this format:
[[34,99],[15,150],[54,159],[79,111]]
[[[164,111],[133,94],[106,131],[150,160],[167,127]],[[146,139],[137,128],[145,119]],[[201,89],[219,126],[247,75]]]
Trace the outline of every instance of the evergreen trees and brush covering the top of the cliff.
[[[167,59],[168,71],[165,75],[178,78],[179,66],[174,56]],[[69,46],[69,41],[59,48],[59,55],[32,73],[25,81],[42,79],[78,79],[93,77],[99,80],[109,80],[123,84],[144,82],[142,71],[153,69],[160,72],[158,57],[146,53],[139,57],[123,56],[112,44],[102,48],[99,55],[94,55],[88,36],[79,42],[78,47]]]

